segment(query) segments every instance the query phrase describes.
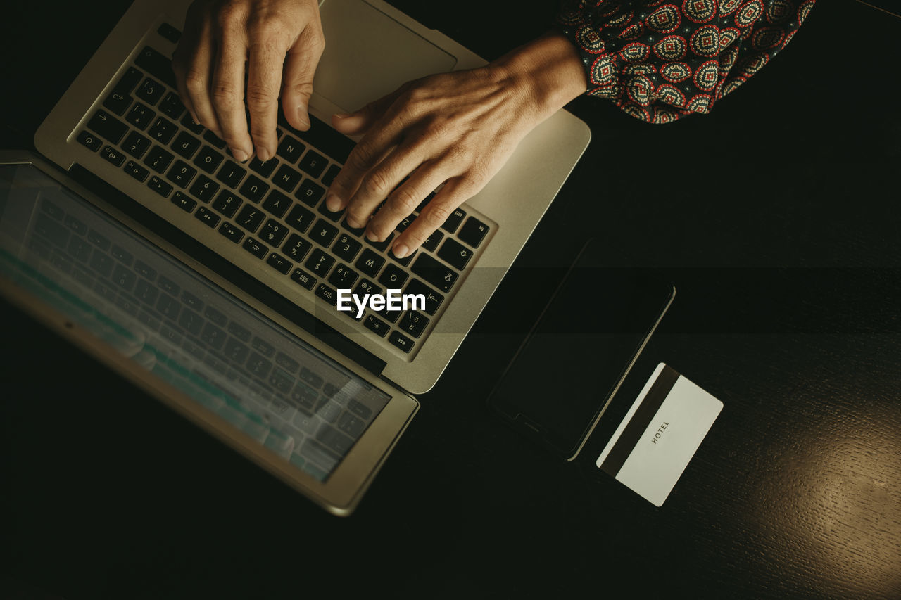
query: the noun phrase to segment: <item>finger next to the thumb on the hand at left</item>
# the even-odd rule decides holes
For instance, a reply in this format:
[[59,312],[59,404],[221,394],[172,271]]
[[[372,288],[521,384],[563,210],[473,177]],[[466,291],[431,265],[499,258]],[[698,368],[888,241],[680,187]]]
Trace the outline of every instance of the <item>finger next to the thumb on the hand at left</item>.
[[284,52],[262,41],[250,46],[250,74],[247,79],[247,107],[250,136],[260,160],[276,154],[278,137],[278,91],[281,87]]

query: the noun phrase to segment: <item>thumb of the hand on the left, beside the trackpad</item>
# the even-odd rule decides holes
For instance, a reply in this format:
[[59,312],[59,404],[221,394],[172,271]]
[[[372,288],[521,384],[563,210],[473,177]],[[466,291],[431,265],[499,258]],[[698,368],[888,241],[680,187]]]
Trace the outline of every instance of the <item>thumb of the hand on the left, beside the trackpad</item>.
[[307,25],[285,59],[282,83],[282,109],[292,127],[305,132],[310,128],[310,95],[313,76],[325,49],[322,30],[313,23]]

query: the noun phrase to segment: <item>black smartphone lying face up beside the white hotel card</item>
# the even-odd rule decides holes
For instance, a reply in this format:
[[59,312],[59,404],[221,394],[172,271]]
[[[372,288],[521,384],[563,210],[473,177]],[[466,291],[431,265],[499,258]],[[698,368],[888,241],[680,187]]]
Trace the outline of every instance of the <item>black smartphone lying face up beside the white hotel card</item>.
[[487,401],[566,460],[578,456],[676,295],[652,269],[598,267],[604,251],[587,241]]

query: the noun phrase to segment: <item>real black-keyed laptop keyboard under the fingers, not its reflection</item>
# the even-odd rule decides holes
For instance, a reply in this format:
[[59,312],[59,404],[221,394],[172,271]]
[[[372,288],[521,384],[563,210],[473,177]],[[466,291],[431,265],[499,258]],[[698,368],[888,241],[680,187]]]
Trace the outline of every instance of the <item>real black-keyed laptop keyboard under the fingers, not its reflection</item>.
[[[163,28],[174,29],[164,23],[161,34]],[[193,123],[175,91],[170,59],[145,46],[86,116],[76,139],[318,303],[335,306],[339,288],[357,295],[387,289],[424,295],[422,311],[367,309],[359,319],[356,310],[341,312],[410,359],[487,245],[490,222],[463,205],[422,248],[397,259],[389,245],[432,195],[386,241],[367,240],[324,204],[353,141],[313,115],[310,120],[310,131],[297,132],[280,115],[276,157],[235,162],[224,141]]]

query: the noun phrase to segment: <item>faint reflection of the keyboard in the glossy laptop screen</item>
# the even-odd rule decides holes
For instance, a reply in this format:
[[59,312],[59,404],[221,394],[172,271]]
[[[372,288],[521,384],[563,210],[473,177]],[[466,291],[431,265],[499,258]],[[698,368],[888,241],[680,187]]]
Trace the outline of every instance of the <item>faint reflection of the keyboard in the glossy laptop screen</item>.
[[130,346],[115,347],[296,467],[327,478],[387,395],[90,216],[44,198],[32,221],[27,247],[55,271],[59,295],[111,315]]

